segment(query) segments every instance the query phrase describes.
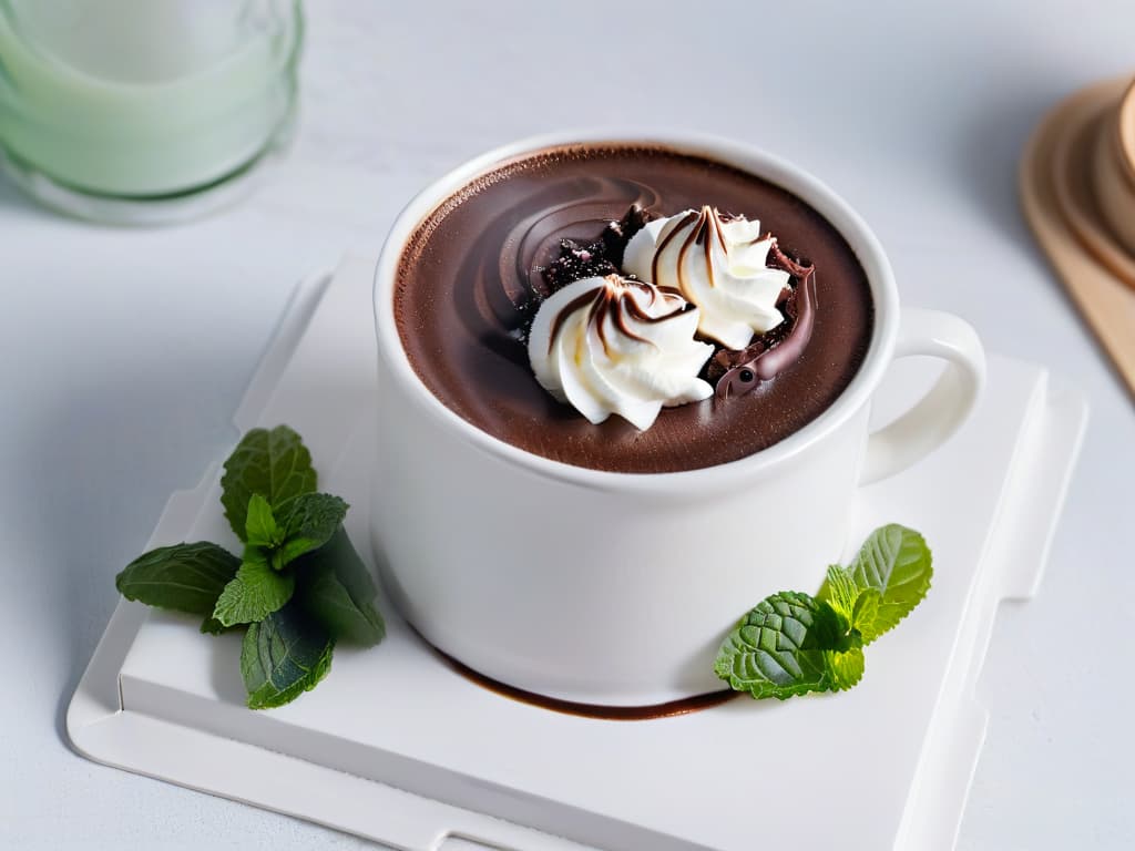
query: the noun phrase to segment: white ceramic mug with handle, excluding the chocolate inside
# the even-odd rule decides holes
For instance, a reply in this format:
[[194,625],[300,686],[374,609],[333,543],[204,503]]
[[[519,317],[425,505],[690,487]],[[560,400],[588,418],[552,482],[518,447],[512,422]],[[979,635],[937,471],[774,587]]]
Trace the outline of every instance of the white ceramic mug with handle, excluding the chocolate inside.
[[[491,437],[419,380],[393,301],[398,259],[418,225],[505,160],[604,141],[664,145],[758,175],[801,197],[844,236],[867,273],[875,326],[859,372],[818,418],[728,464],[614,473]],[[882,247],[831,189],[747,145],[684,133],[558,134],[460,166],[394,224],[376,271],[375,313],[371,528],[388,595],[428,641],[481,674],[605,706],[721,689],[713,662],[737,618],[774,591],[814,590],[842,553],[856,488],[903,470],[950,437],[985,374],[982,345],[967,323],[899,309]],[[909,355],[948,366],[926,397],[868,435],[872,394],[888,364]]]

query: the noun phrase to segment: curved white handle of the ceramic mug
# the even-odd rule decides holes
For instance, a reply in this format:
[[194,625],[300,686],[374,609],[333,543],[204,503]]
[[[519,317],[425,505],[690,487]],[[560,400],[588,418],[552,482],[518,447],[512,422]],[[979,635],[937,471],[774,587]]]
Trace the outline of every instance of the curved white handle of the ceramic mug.
[[903,307],[894,357],[939,357],[945,371],[930,391],[867,438],[860,485],[894,475],[941,446],[957,431],[985,386],[985,349],[977,332],[952,313]]

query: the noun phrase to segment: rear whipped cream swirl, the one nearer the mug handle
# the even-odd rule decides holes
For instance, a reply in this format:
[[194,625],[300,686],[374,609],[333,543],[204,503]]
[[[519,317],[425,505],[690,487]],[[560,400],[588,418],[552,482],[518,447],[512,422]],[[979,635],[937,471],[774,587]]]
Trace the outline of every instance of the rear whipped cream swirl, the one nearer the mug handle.
[[647,224],[628,243],[623,271],[676,289],[700,310],[704,337],[745,348],[784,321],[776,301],[790,276],[766,266],[774,242],[759,221],[703,207]]

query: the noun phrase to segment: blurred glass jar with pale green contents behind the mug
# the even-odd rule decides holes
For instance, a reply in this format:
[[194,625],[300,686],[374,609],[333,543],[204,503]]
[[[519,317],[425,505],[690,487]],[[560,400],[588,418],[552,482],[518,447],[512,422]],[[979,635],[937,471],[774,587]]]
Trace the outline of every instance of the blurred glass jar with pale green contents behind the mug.
[[0,146],[44,203],[157,222],[247,185],[296,104],[300,0],[0,0]]

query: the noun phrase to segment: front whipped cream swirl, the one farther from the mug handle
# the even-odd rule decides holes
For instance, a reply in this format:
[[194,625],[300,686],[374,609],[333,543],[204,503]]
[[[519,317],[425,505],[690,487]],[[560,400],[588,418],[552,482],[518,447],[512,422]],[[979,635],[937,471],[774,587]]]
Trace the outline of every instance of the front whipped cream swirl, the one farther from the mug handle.
[[663,406],[699,402],[714,347],[693,339],[699,311],[675,290],[617,275],[583,278],[548,297],[532,322],[537,381],[592,423],[619,414],[639,430]]

